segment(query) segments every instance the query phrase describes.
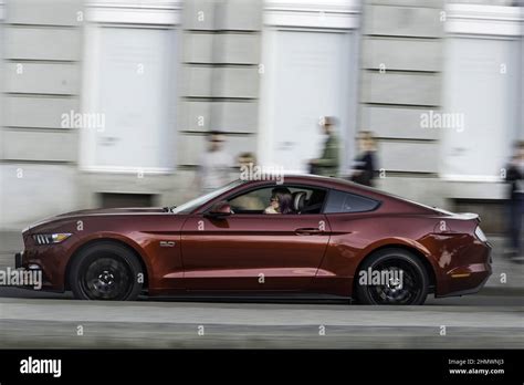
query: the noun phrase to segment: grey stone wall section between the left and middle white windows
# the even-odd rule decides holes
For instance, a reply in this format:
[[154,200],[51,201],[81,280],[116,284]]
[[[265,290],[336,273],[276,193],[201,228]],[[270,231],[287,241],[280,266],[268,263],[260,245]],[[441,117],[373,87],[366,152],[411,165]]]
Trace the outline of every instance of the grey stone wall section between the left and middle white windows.
[[206,133],[226,134],[235,157],[256,152],[262,1],[195,0],[184,4],[178,169],[190,196]]

